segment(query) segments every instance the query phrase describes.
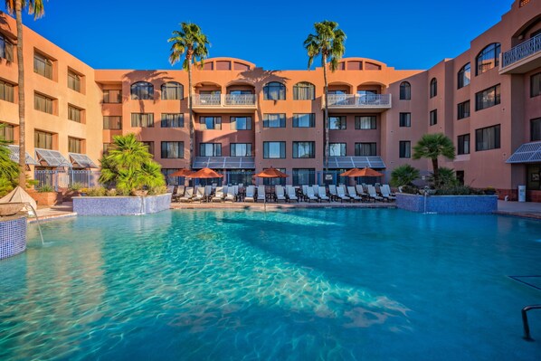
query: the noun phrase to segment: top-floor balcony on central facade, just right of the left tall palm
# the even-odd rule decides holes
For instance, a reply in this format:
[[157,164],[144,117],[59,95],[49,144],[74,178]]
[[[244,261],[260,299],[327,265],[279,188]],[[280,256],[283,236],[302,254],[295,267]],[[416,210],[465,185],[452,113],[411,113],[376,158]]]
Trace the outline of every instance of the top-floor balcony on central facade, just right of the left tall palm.
[[203,113],[255,111],[255,94],[194,94],[192,107]]

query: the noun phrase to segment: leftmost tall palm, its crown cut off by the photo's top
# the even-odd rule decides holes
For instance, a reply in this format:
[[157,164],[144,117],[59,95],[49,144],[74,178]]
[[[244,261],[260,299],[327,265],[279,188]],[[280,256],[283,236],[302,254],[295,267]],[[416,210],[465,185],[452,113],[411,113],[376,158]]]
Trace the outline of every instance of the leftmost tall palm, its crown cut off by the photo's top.
[[26,161],[26,132],[24,131],[24,61],[23,61],[23,10],[28,9],[28,14],[38,19],[44,14],[43,0],[5,0],[5,7],[10,14],[15,13],[17,24],[17,69],[19,71],[19,185],[26,185],[25,161]]

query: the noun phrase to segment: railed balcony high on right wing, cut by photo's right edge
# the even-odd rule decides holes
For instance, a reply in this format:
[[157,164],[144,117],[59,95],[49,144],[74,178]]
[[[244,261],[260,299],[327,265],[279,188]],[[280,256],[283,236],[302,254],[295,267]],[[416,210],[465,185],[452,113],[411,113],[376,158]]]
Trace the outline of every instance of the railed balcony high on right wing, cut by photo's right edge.
[[541,33],[501,54],[500,74],[524,74],[541,66]]

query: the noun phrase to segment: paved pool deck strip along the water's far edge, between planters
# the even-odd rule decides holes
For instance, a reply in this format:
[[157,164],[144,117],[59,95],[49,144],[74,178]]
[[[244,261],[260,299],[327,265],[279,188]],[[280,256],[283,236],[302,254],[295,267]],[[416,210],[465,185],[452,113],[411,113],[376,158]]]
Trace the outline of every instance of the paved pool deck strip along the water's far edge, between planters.
[[[245,202],[225,202],[225,203],[172,203],[171,209],[247,209],[247,210],[268,210],[292,209],[292,208],[395,208],[392,203],[245,203]],[[71,202],[64,202],[62,205],[52,207],[39,207],[37,210],[40,221],[57,219],[62,217],[71,217],[77,215],[73,212]],[[532,202],[504,202],[498,201],[498,211],[496,214],[512,215],[517,217],[533,218],[541,220],[541,203]],[[35,218],[29,218],[29,223],[35,222]]]

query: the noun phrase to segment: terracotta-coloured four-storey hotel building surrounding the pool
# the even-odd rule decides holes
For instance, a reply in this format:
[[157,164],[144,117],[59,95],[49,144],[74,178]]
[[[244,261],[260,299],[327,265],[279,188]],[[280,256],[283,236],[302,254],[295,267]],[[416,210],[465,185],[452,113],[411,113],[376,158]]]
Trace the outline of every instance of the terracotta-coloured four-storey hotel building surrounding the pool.
[[[14,43],[14,19],[0,13],[0,122],[16,145]],[[206,60],[193,72],[193,157],[185,71],[92,69],[26,27],[24,68],[31,170],[94,166],[113,136],[135,133],[166,175],[209,166],[228,183],[246,184],[274,166],[293,184],[326,181],[322,68],[266,71],[239,59]],[[457,157],[441,166],[465,185],[493,186],[511,200],[527,185],[527,199],[541,202],[541,0],[515,1],[469,50],[427,71],[344,58],[327,76],[334,182],[353,166],[383,171],[385,182],[403,164],[432,171],[426,159],[412,159],[413,146],[442,132]]]

